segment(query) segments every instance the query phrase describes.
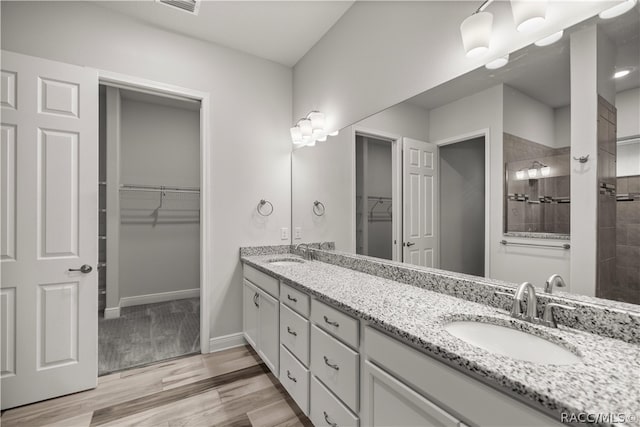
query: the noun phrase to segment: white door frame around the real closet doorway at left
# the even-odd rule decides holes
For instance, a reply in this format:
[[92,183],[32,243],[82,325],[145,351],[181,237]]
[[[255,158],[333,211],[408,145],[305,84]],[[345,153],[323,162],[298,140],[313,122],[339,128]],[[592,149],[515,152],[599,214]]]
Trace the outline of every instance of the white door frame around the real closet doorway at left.
[[[209,278],[213,277],[210,260],[213,256],[211,213],[213,212],[213,162],[211,159],[209,92],[174,86],[126,74],[98,70],[98,84],[149,91],[169,97],[200,101],[200,352],[209,353]],[[96,106],[97,107],[97,106]],[[97,183],[96,183],[97,185]],[[96,316],[98,313],[96,312]]]

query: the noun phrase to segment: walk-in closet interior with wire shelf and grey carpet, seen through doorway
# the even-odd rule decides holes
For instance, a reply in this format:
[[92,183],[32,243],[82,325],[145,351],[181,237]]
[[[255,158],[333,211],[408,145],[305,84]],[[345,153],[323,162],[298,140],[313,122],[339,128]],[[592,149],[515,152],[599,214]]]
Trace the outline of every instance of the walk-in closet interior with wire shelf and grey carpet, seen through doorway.
[[100,86],[99,374],[200,352],[200,103]]

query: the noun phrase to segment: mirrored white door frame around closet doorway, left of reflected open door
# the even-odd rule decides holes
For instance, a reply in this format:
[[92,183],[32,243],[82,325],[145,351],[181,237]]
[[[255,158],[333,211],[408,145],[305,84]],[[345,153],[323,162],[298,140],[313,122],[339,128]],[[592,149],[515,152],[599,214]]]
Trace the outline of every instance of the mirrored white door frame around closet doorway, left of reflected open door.
[[[392,204],[393,218],[393,261],[402,262],[402,135],[380,131],[364,126],[351,126],[351,250],[356,253],[356,136],[366,136],[391,142],[391,174],[392,174]],[[400,243],[398,243],[400,242]]]

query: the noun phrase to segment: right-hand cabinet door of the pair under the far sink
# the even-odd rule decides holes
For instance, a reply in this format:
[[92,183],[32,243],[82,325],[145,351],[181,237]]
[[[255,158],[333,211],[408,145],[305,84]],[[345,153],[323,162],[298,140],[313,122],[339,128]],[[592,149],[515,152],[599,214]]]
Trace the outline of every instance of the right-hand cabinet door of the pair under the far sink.
[[258,294],[258,354],[274,375],[279,377],[279,303],[261,290],[258,290]]

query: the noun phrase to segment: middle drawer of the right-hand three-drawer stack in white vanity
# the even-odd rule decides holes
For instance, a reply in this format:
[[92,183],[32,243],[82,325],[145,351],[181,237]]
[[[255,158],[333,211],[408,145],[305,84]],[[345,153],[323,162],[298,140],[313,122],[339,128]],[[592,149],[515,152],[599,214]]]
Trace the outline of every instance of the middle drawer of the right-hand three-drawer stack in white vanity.
[[359,355],[311,325],[311,372],[349,408],[358,411]]

